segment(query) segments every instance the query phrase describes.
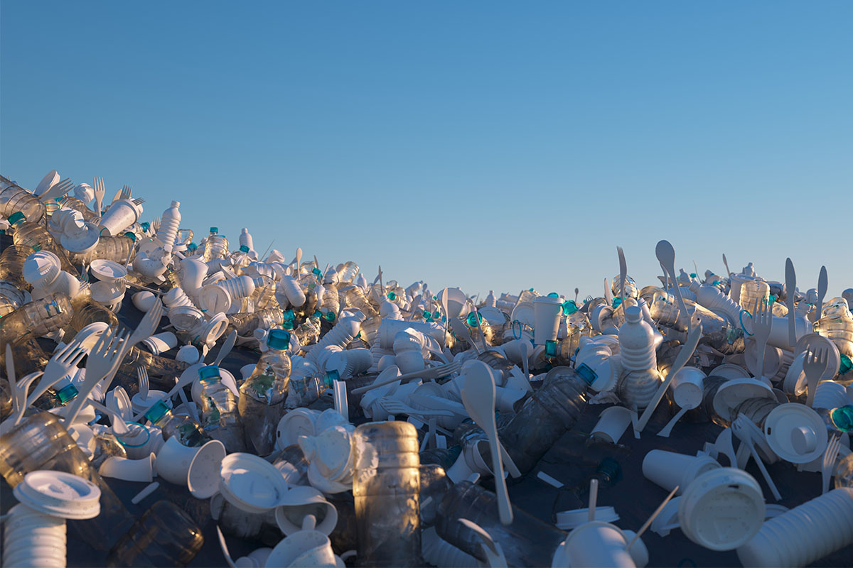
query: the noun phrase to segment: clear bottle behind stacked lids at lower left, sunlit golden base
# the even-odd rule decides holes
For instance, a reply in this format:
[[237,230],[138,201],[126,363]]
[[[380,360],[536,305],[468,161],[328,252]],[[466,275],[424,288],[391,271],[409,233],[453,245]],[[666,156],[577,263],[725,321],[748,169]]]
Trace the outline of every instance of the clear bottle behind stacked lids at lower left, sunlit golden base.
[[101,514],[70,520],[69,528],[96,550],[107,550],[133,522],[130,512],[91,466],[77,442],[49,412],[24,416],[17,427],[0,437],[0,474],[12,487],[27,473],[53,469],[88,479],[101,490]]

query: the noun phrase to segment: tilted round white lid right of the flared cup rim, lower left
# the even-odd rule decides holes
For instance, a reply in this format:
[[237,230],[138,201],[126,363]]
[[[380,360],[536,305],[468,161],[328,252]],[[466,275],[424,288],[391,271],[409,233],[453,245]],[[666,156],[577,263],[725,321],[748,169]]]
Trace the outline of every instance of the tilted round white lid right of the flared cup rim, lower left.
[[222,461],[219,491],[237,508],[249,513],[264,513],[279,505],[287,491],[287,483],[270,462],[238,452]]

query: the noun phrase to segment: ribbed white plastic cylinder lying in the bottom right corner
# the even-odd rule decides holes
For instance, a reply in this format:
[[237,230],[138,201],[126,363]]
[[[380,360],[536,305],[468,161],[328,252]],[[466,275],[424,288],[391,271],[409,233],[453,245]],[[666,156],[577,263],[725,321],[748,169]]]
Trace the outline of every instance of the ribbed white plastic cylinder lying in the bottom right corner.
[[805,566],[853,544],[853,488],[843,487],[765,522],[738,559],[752,566]]

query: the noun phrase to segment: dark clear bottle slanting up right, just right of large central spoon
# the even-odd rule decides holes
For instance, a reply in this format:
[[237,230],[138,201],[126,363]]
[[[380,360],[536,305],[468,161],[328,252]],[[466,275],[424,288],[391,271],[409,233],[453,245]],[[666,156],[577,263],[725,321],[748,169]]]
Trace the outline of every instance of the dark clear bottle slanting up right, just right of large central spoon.
[[501,429],[501,439],[521,473],[529,472],[574,427],[586,407],[587,382],[568,367],[548,371],[543,386]]

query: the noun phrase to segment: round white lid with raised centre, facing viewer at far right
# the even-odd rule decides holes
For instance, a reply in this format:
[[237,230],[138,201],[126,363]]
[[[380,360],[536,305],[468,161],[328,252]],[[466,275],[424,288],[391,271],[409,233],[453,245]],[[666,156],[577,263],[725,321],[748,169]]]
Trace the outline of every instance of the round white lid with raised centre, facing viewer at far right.
[[808,463],[827,449],[827,427],[805,404],[780,404],[764,419],[770,449],[786,462]]

